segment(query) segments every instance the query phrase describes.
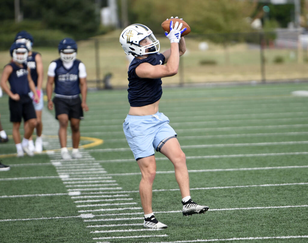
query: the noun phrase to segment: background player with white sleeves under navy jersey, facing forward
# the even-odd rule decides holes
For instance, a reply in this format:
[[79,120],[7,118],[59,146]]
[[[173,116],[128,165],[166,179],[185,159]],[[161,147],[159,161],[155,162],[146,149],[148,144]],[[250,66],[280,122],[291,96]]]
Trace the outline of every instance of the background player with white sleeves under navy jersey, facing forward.
[[[88,111],[87,99],[87,72],[84,64],[76,59],[77,44],[71,38],[64,38],[58,46],[60,58],[50,63],[48,67],[47,98],[48,108],[55,104],[55,116],[59,120],[59,140],[61,156],[71,159],[67,144],[67,125],[71,122],[73,158],[81,158],[78,150],[80,131],[79,123],[83,118],[83,110]],[[55,83],[55,97],[51,100],[52,87]],[[79,87],[80,86],[80,87]],[[82,95],[82,101],[79,94]]]

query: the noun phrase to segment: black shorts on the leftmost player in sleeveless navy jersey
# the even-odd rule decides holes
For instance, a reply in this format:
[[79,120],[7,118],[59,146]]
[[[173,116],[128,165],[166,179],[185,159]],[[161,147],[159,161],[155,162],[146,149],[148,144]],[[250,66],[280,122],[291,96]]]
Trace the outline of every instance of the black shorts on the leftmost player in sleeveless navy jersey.
[[27,121],[32,118],[36,118],[34,106],[32,104],[32,99],[28,94],[19,95],[20,100],[16,101],[9,98],[10,107],[10,122],[21,122]]

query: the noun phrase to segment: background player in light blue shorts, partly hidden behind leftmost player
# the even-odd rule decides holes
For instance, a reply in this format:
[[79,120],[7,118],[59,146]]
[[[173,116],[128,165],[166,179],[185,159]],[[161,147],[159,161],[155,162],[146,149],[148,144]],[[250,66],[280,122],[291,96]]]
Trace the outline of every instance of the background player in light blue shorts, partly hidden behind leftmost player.
[[[32,46],[34,43],[34,39],[30,33],[25,30],[18,32],[15,36],[14,41],[16,43],[24,43],[28,49],[28,58],[27,58],[27,66],[30,68],[31,78],[34,82],[36,92],[39,96],[39,103],[33,101],[35,113],[36,113],[36,139],[35,139],[35,147],[32,140],[32,136],[29,140],[29,149],[38,153],[41,153],[43,150],[43,140],[42,140],[42,131],[43,131],[43,123],[42,123],[42,110],[43,110],[43,62],[42,56],[38,52],[32,51]],[[33,92],[29,93],[29,96],[33,99]],[[25,126],[28,124],[25,123]]]

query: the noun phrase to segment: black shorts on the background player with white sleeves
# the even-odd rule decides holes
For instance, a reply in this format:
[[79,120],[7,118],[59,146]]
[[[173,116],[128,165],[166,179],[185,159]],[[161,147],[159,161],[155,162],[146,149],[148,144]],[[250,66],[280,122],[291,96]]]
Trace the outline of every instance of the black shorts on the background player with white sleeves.
[[80,97],[72,99],[54,97],[52,101],[55,104],[56,119],[58,119],[57,116],[61,114],[67,114],[68,119],[71,118],[83,119],[83,110],[81,107]]

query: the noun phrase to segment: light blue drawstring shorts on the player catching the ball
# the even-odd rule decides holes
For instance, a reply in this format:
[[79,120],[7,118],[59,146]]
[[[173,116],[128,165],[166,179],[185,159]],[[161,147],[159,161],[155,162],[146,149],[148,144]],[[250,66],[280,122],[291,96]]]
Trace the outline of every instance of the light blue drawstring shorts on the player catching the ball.
[[163,113],[154,115],[127,115],[123,130],[135,159],[151,156],[162,140],[176,136]]

